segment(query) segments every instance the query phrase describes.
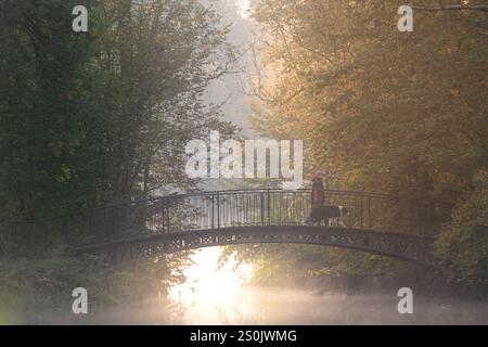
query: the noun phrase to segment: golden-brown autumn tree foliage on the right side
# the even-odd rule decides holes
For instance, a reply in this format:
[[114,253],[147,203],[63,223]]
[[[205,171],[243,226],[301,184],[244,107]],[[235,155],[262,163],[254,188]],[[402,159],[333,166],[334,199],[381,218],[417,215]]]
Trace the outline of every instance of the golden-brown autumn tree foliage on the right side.
[[[400,33],[401,1],[254,1],[266,65],[249,83],[254,126],[304,139],[308,172],[324,170],[329,188],[459,204],[452,222],[438,215],[439,257],[449,279],[486,293],[487,13],[429,2],[414,10],[413,33]],[[270,266],[277,249],[260,248]],[[312,253],[291,249],[275,273]],[[337,252],[324,272],[390,272]]]

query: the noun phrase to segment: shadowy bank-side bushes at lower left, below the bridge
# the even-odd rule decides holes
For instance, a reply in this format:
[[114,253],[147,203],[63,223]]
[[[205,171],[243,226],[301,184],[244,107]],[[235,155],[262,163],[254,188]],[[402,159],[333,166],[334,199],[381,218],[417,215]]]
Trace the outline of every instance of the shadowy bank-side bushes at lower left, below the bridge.
[[[113,268],[97,257],[0,259],[0,324],[49,322],[43,314],[73,317],[72,292],[88,292],[89,310],[124,306],[160,295],[181,283],[185,257],[166,257]],[[64,322],[66,323],[66,322]]]

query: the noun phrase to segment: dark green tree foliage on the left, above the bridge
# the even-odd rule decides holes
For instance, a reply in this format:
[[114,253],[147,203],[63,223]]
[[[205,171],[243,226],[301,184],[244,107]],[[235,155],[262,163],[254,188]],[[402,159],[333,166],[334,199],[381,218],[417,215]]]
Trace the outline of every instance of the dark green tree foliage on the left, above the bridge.
[[188,185],[184,145],[233,130],[206,106],[228,29],[191,0],[0,4],[0,205],[35,218]]

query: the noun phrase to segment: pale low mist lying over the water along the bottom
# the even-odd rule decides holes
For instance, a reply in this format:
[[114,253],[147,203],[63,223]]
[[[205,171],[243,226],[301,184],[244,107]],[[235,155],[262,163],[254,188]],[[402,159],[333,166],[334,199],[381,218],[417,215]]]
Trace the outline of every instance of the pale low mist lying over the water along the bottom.
[[[396,293],[347,295],[248,288],[234,303],[179,305],[151,299],[88,316],[43,312],[30,324],[488,324],[488,303],[415,297],[413,314],[397,311]],[[204,308],[204,310],[201,310]]]

